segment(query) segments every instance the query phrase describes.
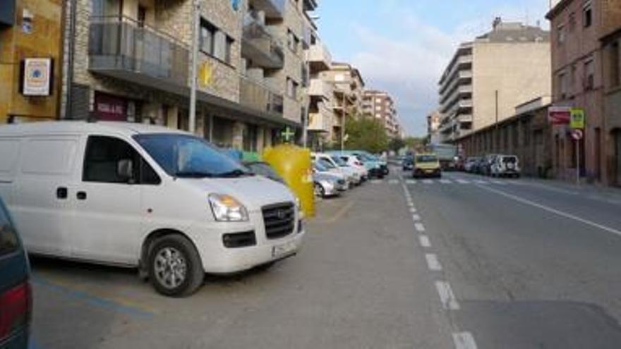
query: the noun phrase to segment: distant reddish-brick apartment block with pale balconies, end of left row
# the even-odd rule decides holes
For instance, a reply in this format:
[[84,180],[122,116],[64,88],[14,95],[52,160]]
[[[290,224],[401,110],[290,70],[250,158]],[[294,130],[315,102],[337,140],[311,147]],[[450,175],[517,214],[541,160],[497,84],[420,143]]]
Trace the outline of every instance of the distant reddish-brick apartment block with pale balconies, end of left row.
[[400,136],[397,109],[395,109],[394,100],[388,92],[376,90],[364,91],[362,114],[381,121],[388,137],[395,138]]

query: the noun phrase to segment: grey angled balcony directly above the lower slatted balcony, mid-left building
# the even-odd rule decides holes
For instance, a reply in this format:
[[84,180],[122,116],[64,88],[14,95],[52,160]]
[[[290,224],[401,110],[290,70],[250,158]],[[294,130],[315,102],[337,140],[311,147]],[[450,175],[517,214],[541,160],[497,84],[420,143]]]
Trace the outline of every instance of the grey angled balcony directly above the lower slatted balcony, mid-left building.
[[246,14],[242,42],[241,55],[253,65],[271,69],[284,67],[282,43],[270,34],[257,12]]

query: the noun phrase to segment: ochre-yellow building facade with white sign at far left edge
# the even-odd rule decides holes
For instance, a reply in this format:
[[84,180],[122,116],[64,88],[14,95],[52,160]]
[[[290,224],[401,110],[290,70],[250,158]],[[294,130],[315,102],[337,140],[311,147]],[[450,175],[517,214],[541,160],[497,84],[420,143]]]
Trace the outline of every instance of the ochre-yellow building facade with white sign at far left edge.
[[54,0],[0,1],[0,123],[57,118],[62,12]]

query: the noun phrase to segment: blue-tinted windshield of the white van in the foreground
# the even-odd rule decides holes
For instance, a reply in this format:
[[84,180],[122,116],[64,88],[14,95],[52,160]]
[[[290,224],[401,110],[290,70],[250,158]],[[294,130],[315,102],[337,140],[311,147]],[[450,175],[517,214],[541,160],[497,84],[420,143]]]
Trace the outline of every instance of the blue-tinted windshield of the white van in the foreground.
[[138,142],[169,175],[186,178],[252,176],[252,172],[216,147],[192,135],[135,135]]

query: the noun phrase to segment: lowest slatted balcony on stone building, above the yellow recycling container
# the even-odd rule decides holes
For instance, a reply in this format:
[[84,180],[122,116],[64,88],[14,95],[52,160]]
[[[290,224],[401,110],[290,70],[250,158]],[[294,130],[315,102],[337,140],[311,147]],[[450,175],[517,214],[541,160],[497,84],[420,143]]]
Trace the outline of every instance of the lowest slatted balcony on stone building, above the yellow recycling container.
[[243,106],[282,116],[282,94],[272,92],[267,86],[245,76],[239,79],[239,92],[239,103]]

